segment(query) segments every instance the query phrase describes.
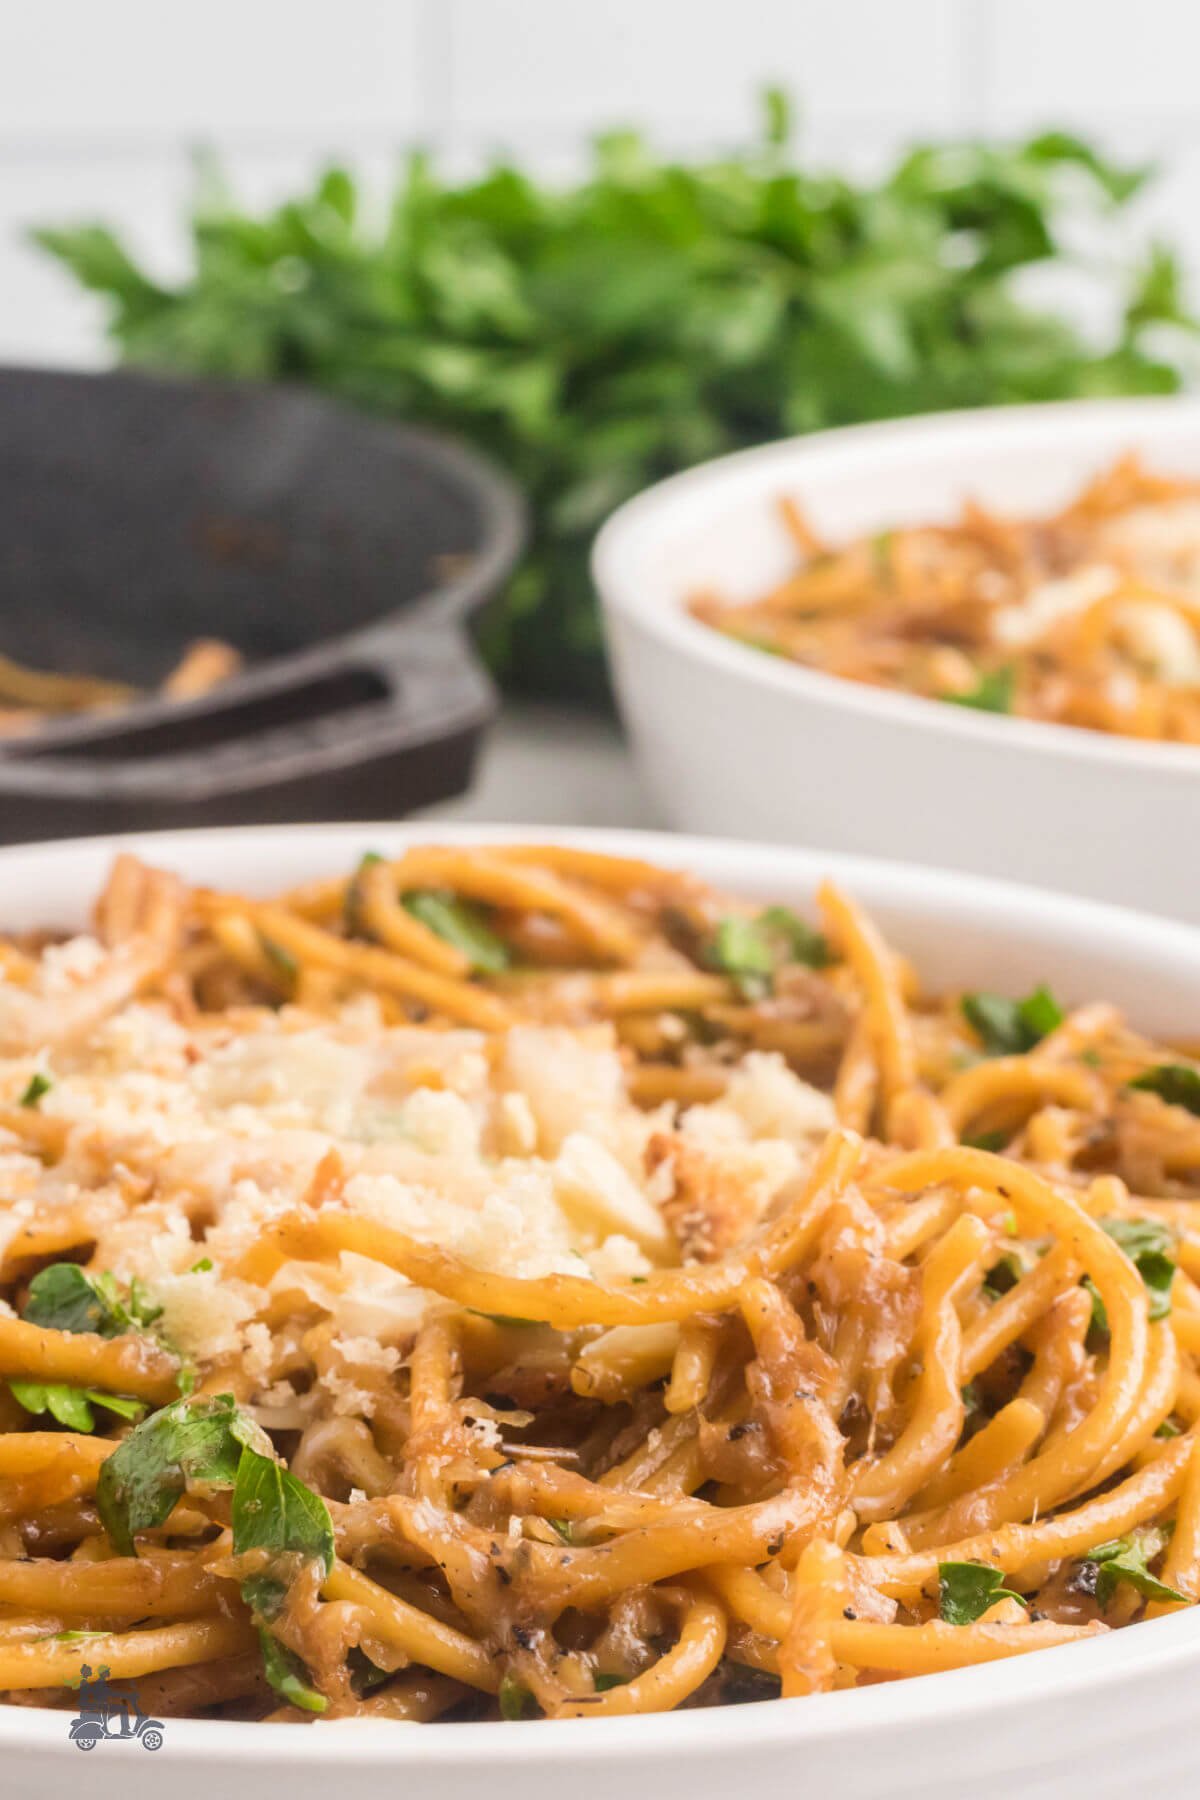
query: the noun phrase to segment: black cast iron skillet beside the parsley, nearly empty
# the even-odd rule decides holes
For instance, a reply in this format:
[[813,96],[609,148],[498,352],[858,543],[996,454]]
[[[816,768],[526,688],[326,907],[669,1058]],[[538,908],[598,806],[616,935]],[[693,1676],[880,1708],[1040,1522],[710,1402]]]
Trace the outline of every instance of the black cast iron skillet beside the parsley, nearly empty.
[[0,369],[0,653],[198,700],[0,738],[0,841],[396,817],[470,779],[491,684],[466,635],[524,509],[457,445],[300,389]]

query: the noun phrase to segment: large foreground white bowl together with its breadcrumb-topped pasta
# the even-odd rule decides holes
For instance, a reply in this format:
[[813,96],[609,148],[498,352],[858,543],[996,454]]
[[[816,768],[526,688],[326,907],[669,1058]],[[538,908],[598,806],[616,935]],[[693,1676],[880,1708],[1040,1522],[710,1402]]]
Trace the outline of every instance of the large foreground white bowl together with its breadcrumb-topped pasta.
[[[7,1683],[103,1654],[158,1708],[185,1800],[255,1791],[266,1764],[297,1795],[407,1775],[590,1796],[622,1769],[784,1793],[797,1760],[847,1795],[1033,1771],[1115,1795],[1150,1746],[1195,1775],[1196,1616],[1169,1616],[1196,1530],[1189,931],[635,833],[196,833],[0,869],[5,1174],[32,1233],[5,1244],[0,1355],[94,1411],[58,1426],[25,1390],[5,1413],[9,1530],[43,1483],[32,1561],[0,1559]],[[20,938],[83,925],[106,880],[104,941]],[[83,1334],[68,1301],[117,1328]],[[97,1521],[97,1467],[146,1447],[185,1363],[184,1409],[237,1415],[234,1474],[207,1471],[169,1535],[128,1480]],[[135,1426],[106,1395],[160,1411]],[[239,1489],[277,1454],[320,1501],[239,1544]],[[1123,1624],[1144,1609],[1168,1616]],[[176,1717],[187,1669],[223,1670],[232,1710],[275,1706],[257,1631],[333,1717]],[[957,1667],[1022,1634],[1058,1647]],[[329,1679],[347,1647],[374,1706]],[[696,1706],[743,1697],[730,1663],[766,1678],[747,1697],[777,1669],[804,1697]],[[430,1710],[461,1723],[398,1730]],[[515,1717],[534,1710],[563,1723]],[[5,1789],[67,1778],[68,1719],[0,1714]],[[149,1793],[162,1771],[133,1759],[99,1746],[90,1786]]]

